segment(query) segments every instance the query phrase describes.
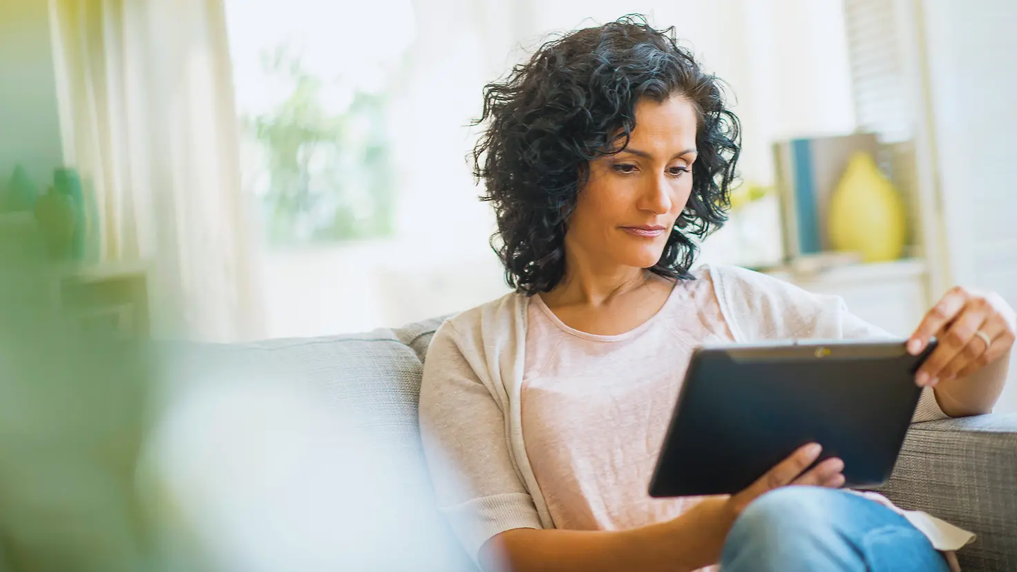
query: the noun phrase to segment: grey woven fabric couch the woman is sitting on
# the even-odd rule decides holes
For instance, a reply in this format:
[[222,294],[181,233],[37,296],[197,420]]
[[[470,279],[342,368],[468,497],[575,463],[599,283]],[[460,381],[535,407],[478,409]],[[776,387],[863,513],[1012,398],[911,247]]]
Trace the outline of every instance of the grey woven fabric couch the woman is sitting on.
[[[364,334],[234,347],[287,371],[288,383],[308,384],[322,399],[356,411],[364,431],[404,456],[401,478],[429,490],[417,397],[427,345],[439,325],[435,319]],[[974,531],[977,539],[958,554],[965,571],[1017,570],[1017,415],[912,425],[882,493],[901,507],[924,510]],[[422,502],[436,510],[432,499]],[[443,526],[440,517],[435,516],[433,526]],[[458,545],[451,540],[442,550],[456,552]],[[441,569],[475,570],[463,554],[442,558],[446,565]]]

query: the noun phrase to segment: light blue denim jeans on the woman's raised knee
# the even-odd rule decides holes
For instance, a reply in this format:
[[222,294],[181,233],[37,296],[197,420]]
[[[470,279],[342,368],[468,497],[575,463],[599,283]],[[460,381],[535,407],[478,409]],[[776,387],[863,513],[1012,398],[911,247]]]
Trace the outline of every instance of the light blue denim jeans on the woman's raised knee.
[[857,495],[785,487],[735,521],[723,572],[949,572],[942,554],[906,518]]

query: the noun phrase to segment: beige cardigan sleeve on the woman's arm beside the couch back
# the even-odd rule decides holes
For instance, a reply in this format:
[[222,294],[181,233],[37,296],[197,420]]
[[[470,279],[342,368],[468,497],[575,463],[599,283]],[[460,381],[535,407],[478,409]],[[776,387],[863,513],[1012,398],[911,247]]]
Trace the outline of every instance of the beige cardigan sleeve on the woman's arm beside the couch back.
[[510,455],[505,412],[470,367],[451,322],[424,360],[420,430],[438,507],[474,562],[495,534],[541,528]]

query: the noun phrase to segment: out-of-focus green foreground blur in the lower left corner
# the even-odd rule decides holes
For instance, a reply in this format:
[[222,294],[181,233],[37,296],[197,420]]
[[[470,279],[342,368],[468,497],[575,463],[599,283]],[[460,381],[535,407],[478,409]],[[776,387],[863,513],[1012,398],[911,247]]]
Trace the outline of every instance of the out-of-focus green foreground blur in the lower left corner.
[[146,352],[66,320],[34,225],[3,240],[0,569],[149,570],[151,528],[135,489]]

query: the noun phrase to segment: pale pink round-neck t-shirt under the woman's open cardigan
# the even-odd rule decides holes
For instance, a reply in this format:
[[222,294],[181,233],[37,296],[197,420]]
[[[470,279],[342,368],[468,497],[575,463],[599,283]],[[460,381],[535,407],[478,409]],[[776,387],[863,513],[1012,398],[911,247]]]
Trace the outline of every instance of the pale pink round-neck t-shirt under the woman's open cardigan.
[[687,510],[695,499],[647,489],[693,348],[733,341],[709,273],[616,336],[570,328],[540,296],[528,311],[523,435],[555,526],[620,530]]

